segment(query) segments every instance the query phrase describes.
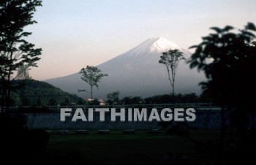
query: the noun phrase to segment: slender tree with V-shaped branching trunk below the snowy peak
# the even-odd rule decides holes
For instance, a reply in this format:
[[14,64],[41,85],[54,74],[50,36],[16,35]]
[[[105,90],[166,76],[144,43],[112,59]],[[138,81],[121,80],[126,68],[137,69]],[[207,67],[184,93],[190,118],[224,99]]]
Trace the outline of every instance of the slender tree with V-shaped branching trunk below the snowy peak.
[[178,50],[169,50],[168,52],[163,52],[162,55],[160,56],[159,63],[165,64],[166,66],[168,79],[172,87],[173,95],[174,95],[174,83],[175,83],[176,73],[178,70],[178,63],[184,59],[185,58],[183,53]]

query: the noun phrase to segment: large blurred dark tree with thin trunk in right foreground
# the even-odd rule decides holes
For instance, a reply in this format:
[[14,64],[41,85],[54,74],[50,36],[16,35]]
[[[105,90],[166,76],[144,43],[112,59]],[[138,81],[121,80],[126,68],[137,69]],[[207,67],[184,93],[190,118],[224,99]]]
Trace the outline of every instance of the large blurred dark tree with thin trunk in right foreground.
[[[219,150],[216,154],[219,156],[217,164],[223,164],[227,153],[224,147],[225,124],[227,118],[230,118],[230,115],[225,114],[226,110],[230,110],[229,114],[233,116],[239,115],[240,118],[245,114],[254,114],[255,111],[256,42],[253,32],[256,31],[256,27],[253,23],[248,23],[238,33],[232,32],[234,29],[232,26],[211,29],[215,33],[203,37],[203,42],[199,45],[192,46],[195,48],[195,53],[192,54],[189,64],[191,68],[197,67],[206,74],[208,80],[200,82],[203,94],[210,96],[222,107],[222,130],[218,143]],[[244,118],[237,123],[240,122],[247,123]],[[242,128],[243,131],[239,130],[242,133],[241,137],[245,137],[244,132],[248,130],[247,125],[243,125],[245,126]],[[241,142],[244,142],[244,139],[236,145],[239,146]],[[255,145],[255,140],[249,142]],[[255,156],[249,158],[246,152],[249,153],[249,149],[244,148],[242,152],[237,149],[236,153],[233,150],[234,155],[238,156],[233,159],[241,161],[255,158]]]

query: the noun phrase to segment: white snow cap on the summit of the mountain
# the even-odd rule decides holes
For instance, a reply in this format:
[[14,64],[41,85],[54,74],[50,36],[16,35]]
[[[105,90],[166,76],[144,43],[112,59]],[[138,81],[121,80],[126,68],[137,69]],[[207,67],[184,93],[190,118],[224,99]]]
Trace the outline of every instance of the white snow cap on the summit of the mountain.
[[174,50],[174,49],[187,53],[186,50],[182,49],[175,43],[170,42],[165,38],[157,37],[157,38],[147,39],[137,47],[132,48],[131,50],[127,51],[127,53],[124,53],[121,56],[123,57],[130,56],[130,55],[140,56],[140,55],[146,55],[148,53],[162,53],[162,52],[166,52],[168,50]]

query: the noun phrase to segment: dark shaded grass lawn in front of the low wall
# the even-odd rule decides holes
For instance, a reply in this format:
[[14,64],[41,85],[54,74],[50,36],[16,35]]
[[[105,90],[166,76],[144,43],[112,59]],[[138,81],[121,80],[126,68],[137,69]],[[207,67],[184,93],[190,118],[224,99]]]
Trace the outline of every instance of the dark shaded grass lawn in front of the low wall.
[[[170,136],[161,132],[148,134],[63,134],[50,135],[43,164],[173,164],[188,159],[197,164],[206,161],[187,137]],[[195,139],[214,139],[218,131],[193,131]],[[178,163],[181,164],[182,162]]]

